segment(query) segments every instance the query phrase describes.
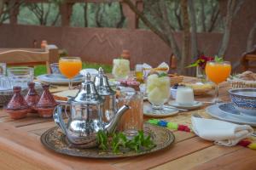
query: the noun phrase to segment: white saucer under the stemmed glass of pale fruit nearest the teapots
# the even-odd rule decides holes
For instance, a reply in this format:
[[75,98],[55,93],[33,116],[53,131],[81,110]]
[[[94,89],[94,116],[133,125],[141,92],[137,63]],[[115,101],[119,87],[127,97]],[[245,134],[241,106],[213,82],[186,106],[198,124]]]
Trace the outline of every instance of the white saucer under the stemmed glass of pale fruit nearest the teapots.
[[166,116],[174,116],[177,115],[177,109],[171,109],[165,107],[162,111],[153,110],[151,105],[143,105],[143,114],[145,116],[152,116],[152,117],[166,117]]

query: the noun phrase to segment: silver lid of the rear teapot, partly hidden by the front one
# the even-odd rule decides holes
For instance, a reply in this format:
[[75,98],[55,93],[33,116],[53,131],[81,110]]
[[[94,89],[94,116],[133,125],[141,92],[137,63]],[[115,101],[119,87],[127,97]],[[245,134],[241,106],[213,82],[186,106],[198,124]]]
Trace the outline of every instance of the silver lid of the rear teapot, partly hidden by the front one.
[[108,77],[104,74],[102,67],[99,68],[98,74],[94,78],[96,89],[100,95],[114,95],[115,92],[109,86]]

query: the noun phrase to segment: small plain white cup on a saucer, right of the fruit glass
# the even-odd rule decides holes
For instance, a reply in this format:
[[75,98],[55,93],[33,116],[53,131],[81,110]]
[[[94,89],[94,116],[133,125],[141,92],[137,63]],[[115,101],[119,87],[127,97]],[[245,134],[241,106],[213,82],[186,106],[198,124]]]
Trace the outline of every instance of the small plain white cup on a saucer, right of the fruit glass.
[[177,88],[176,102],[180,105],[193,105],[195,103],[193,89],[185,87]]

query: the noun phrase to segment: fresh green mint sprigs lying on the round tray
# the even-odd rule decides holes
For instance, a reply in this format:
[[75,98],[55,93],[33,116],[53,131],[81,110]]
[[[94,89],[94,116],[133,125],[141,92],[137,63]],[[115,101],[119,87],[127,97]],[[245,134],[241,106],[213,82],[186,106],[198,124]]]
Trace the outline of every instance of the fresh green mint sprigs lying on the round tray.
[[[108,140],[108,137],[111,140]],[[141,152],[143,150],[152,150],[155,147],[151,135],[145,137],[143,131],[139,131],[133,139],[127,139],[124,133],[113,133],[108,136],[107,133],[99,131],[96,139],[100,149],[110,150],[115,154],[122,150]]]

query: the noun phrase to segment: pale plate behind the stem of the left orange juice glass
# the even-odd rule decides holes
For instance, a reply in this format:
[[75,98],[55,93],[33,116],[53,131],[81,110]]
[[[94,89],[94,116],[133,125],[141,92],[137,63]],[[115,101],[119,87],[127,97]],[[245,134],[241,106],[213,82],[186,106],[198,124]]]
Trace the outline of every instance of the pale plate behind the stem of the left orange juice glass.
[[[40,82],[48,82],[51,84],[67,85],[69,80],[61,74],[45,74],[37,77]],[[84,82],[84,77],[78,75],[72,79],[72,83]]]

